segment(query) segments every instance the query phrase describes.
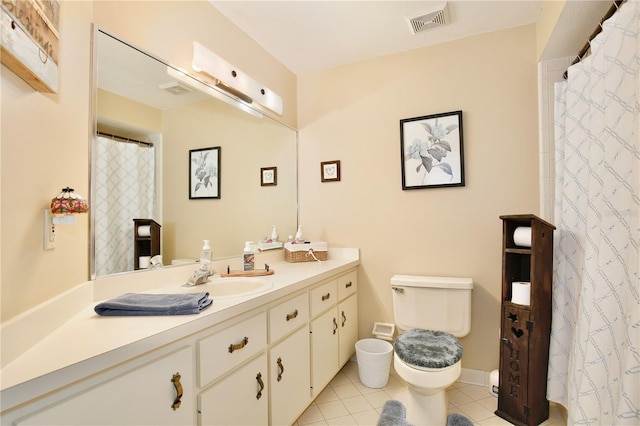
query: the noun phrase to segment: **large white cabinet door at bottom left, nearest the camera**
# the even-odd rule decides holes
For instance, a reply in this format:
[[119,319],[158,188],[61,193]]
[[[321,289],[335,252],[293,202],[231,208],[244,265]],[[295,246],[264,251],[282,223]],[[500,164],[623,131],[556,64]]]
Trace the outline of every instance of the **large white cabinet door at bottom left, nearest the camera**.
[[[195,424],[193,354],[185,347],[23,418],[17,425]],[[177,382],[183,395],[177,399]]]

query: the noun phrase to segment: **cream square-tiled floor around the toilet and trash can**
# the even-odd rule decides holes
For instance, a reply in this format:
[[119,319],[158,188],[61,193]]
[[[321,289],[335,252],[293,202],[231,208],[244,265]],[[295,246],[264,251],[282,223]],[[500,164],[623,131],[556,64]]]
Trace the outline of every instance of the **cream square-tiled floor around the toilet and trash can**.
[[[370,389],[360,383],[358,365],[348,362],[331,383],[298,418],[295,426],[368,425],[375,426],[382,406],[389,399],[403,401],[407,386],[391,371],[383,389]],[[455,383],[447,390],[449,413],[460,413],[477,426],[500,426],[511,423],[497,417],[498,398],[484,386]],[[544,426],[566,426],[561,409],[551,405]]]

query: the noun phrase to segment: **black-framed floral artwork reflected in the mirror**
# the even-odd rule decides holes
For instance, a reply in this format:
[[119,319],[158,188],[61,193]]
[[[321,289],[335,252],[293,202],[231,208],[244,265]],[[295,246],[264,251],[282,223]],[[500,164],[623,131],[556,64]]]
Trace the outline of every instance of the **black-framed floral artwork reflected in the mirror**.
[[189,150],[189,199],[220,198],[220,147]]

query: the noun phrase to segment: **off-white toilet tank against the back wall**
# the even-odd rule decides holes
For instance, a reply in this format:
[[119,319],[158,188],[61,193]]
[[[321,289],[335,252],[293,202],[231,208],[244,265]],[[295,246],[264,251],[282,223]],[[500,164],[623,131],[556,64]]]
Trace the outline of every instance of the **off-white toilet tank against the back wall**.
[[471,278],[394,275],[394,322],[401,330],[447,331],[456,337],[471,329]]

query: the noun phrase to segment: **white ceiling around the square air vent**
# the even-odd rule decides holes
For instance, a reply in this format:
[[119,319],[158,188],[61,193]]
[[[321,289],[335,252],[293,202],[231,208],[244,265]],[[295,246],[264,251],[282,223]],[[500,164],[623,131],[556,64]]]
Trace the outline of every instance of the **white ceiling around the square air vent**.
[[407,16],[444,1],[210,0],[297,75],[537,21],[542,0],[449,0],[450,23],[412,34]]

